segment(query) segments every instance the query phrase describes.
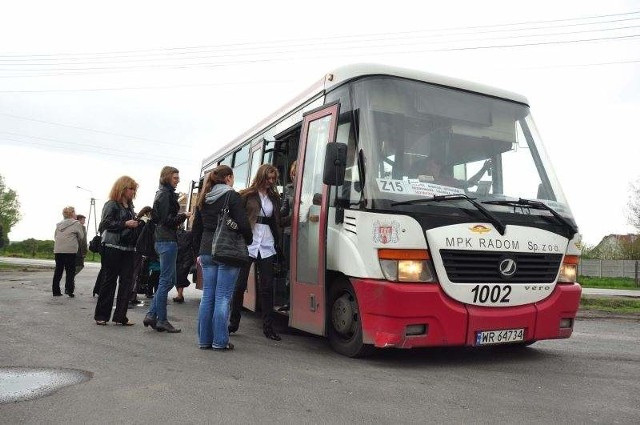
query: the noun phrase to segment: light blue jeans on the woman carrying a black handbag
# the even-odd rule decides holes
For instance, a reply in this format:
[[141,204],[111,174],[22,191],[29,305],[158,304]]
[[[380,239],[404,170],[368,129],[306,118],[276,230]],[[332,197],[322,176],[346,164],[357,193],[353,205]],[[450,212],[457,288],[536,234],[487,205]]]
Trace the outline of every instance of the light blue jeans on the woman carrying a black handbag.
[[202,297],[198,310],[200,347],[224,348],[229,343],[229,303],[240,267],[213,261],[201,255]]

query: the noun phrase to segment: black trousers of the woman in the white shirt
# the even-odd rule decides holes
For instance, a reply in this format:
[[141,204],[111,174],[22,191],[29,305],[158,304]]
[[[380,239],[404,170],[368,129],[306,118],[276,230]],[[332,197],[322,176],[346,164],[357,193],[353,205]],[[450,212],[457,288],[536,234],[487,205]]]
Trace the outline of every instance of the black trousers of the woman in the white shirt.
[[[260,311],[262,313],[262,329],[264,330],[271,329],[273,326],[273,260],[274,256],[261,258],[260,254],[257,259],[253,260],[258,273],[258,293],[260,294]],[[244,301],[244,291],[247,290],[250,269],[251,263],[240,269],[231,300],[230,328],[237,329],[240,326],[240,312]]]

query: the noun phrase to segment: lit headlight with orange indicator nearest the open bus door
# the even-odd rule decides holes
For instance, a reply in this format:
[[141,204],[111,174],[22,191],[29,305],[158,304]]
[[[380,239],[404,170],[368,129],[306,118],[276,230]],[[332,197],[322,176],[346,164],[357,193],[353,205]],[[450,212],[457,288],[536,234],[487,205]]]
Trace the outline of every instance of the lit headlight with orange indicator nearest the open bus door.
[[393,282],[435,282],[429,252],[418,249],[378,250],[385,279]]

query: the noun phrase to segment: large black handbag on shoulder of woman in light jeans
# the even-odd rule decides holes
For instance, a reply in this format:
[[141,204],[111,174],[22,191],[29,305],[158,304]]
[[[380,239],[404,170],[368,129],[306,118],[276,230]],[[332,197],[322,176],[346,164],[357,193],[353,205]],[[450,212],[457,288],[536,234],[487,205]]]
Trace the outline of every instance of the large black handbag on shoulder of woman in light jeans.
[[218,214],[218,226],[213,234],[211,256],[221,263],[250,263],[249,249],[244,238],[237,232],[238,224],[229,216],[229,191],[224,206]]

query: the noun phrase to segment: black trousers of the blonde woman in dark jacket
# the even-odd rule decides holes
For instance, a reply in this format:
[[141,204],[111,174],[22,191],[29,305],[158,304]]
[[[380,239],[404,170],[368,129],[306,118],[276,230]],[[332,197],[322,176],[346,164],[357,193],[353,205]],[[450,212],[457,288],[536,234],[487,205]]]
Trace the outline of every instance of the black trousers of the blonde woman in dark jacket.
[[109,320],[117,286],[118,296],[116,297],[116,309],[113,312],[113,321],[120,323],[127,322],[135,252],[105,247],[102,255],[104,279],[100,286],[94,319]]

